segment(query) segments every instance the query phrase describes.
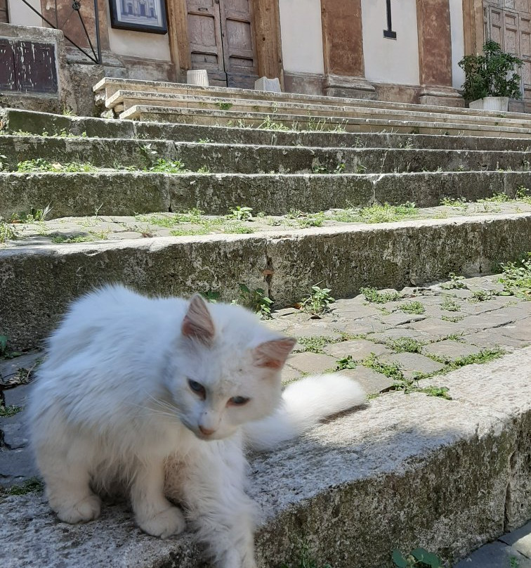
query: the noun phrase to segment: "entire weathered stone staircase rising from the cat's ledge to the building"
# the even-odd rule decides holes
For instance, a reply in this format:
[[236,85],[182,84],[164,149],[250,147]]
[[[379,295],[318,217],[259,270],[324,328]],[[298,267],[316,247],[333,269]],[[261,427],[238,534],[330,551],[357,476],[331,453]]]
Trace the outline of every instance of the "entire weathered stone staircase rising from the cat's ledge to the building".
[[[336,298],[365,286],[407,287],[414,297],[414,287],[451,272],[490,274],[531,251],[531,130],[518,113],[447,115],[421,105],[122,79],[104,79],[95,91],[122,120],[2,111],[0,335],[13,350],[40,348],[74,297],[110,281],[223,300],[239,297],[244,283],[274,300],[271,325],[286,329],[282,317],[299,317],[289,306],[311,285]],[[529,302],[500,298],[497,307],[512,311],[492,316],[490,328],[504,325],[507,349],[524,347],[528,320],[519,318]],[[377,311],[345,302],[354,304],[339,302],[336,327],[355,340],[365,333],[359,318]],[[467,316],[483,325],[488,311]],[[313,328],[304,333],[339,334],[326,327],[333,314],[306,318]],[[375,332],[415,321],[397,316],[367,325]],[[465,329],[433,321],[435,343]],[[517,338],[506,330],[513,321]],[[428,333],[412,329],[405,333]],[[454,406],[386,394],[278,455],[255,456],[251,491],[266,511],[260,567],[293,555],[294,535],[334,568],[391,568],[393,547],[424,543],[454,561],[523,524],[531,517],[528,361],[531,351],[522,349],[445,375]],[[96,568],[202,565],[189,535],[154,543],[123,523],[120,507],[62,529],[40,496],[16,499],[0,503],[18,527],[0,527],[15,542],[10,568],[24,565],[27,550],[26,565],[43,568],[87,557]],[[16,522],[13,508],[26,517]],[[57,545],[60,530],[74,547]],[[39,548],[33,534],[51,544]]]

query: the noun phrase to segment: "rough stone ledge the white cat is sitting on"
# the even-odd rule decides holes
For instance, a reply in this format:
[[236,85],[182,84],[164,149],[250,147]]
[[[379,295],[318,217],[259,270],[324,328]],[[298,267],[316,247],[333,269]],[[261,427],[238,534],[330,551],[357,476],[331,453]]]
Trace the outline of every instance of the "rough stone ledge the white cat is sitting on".
[[[263,510],[258,566],[294,561],[304,539],[334,568],[391,568],[393,548],[455,562],[531,517],[531,348],[445,375],[452,401],[386,394],[275,453],[251,457]],[[203,568],[190,535],[140,533],[124,505],[58,522],[41,495],[6,498],[5,568]]]

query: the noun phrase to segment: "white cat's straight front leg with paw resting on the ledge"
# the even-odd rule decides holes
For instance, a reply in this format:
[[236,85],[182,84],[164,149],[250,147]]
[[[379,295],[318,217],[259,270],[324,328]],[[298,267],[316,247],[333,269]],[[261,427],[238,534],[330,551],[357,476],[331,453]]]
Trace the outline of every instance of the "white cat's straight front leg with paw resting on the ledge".
[[147,458],[138,467],[131,486],[131,502],[138,527],[167,538],[185,528],[184,515],[164,497],[164,461]]

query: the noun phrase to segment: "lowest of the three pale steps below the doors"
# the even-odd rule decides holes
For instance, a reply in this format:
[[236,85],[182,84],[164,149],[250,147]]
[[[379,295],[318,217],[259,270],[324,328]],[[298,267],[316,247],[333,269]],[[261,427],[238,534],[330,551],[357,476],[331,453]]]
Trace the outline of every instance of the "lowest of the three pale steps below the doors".
[[275,115],[261,112],[237,112],[232,110],[205,110],[201,108],[178,108],[165,106],[134,105],[120,114],[121,119],[153,122],[181,122],[212,126],[240,126],[263,128],[293,127],[301,130],[315,130],[321,125],[330,129],[348,132],[394,132],[401,134],[444,134],[450,136],[504,136],[506,138],[531,138],[527,127],[500,127],[473,125],[462,122],[417,122],[409,120],[334,118],[308,115]]

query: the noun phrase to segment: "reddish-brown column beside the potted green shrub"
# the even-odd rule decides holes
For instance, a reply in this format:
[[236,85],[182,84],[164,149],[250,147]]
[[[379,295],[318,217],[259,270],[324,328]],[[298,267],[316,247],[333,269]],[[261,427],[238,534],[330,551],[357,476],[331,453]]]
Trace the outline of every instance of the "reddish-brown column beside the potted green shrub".
[[419,101],[425,105],[464,106],[452,87],[452,34],[449,0],[417,0]]

